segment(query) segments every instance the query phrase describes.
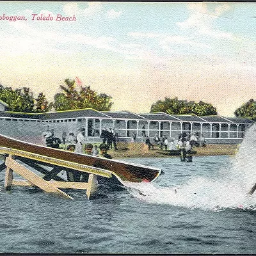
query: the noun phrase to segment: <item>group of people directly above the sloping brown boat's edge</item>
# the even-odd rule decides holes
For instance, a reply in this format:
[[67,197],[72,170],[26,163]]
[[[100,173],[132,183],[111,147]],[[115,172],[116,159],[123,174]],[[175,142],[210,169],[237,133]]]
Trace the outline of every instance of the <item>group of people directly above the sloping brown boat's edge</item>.
[[63,132],[61,140],[54,135],[54,129],[50,129],[48,125],[47,130],[43,132],[42,136],[47,147],[61,148],[90,156],[100,156],[108,159],[112,158],[108,154],[109,145],[105,142],[99,145],[99,150],[97,145],[86,143],[84,128],[78,130],[77,136],[74,135],[74,132],[69,132],[68,134],[67,132]]

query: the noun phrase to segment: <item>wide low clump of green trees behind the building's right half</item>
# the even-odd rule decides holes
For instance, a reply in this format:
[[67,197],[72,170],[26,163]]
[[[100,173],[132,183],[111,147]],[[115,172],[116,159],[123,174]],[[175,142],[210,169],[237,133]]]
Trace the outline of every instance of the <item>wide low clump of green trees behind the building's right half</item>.
[[164,100],[157,100],[156,103],[152,104],[150,112],[164,112],[170,115],[217,115],[216,108],[212,104],[205,103],[201,100],[198,103],[194,101],[188,102],[188,100],[179,100],[177,97],[173,99],[165,97]]

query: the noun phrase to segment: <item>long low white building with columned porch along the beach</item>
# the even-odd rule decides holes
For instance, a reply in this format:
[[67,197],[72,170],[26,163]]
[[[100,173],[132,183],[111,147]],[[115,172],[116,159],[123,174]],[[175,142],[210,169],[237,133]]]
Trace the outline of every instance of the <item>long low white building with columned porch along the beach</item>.
[[[114,127],[120,140],[131,140],[134,132],[138,140],[142,140],[143,133],[150,138],[156,134],[177,138],[181,132],[198,132],[204,134],[207,143],[240,143],[246,127],[252,123],[246,118],[168,115],[163,112],[136,114],[130,111],[79,109],[31,114],[0,111],[2,133],[17,138],[25,138],[28,134],[38,138],[49,125],[55,129],[56,136],[61,136],[63,131],[76,133],[77,129],[84,127],[86,138],[93,141],[100,140],[104,127]],[[24,133],[27,133],[26,136]]]

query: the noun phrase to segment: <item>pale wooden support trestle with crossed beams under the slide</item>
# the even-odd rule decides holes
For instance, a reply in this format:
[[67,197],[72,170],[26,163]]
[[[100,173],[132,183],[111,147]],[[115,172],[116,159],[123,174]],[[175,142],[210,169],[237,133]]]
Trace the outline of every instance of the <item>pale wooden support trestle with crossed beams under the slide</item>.
[[[30,160],[31,161],[31,160]],[[26,163],[28,164],[28,163]],[[37,166],[31,161],[29,166],[35,167],[35,170],[41,171],[44,177],[40,177],[35,172],[29,170],[22,164],[18,163],[15,156],[9,155],[5,159],[6,172],[4,180],[4,188],[10,189],[11,186],[37,186],[43,189],[47,193],[55,193],[56,195],[64,196],[65,198],[74,199],[67,193],[61,191],[60,188],[70,188],[70,189],[86,189],[86,196],[89,199],[90,196],[97,190],[97,175],[90,173],[88,174],[88,182],[75,182],[75,181],[65,181],[60,177],[56,176],[63,170],[60,166],[54,166],[51,171],[47,172],[44,168]],[[38,168],[36,168],[36,166]],[[13,172],[19,174],[26,180],[14,180]],[[76,172],[76,171],[75,171]],[[71,173],[67,170],[67,173]],[[56,180],[55,180],[56,179]],[[61,181],[60,181],[61,180]],[[70,179],[69,179],[70,180]],[[73,179],[74,180],[74,179]]]

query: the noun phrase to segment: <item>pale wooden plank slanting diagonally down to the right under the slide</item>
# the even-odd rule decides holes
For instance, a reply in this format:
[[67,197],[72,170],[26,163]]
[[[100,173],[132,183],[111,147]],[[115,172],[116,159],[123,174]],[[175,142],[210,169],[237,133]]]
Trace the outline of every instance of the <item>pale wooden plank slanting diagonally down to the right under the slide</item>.
[[42,179],[32,171],[28,170],[22,164],[17,163],[12,158],[6,157],[6,165],[9,168],[12,168],[14,172],[18,173],[20,176],[24,177],[32,184],[35,184],[39,188],[43,189],[45,192],[56,193],[58,195],[65,196],[65,198],[74,199],[71,196],[64,193],[63,191],[61,191],[60,189],[56,188],[54,185],[51,184],[51,182]]

